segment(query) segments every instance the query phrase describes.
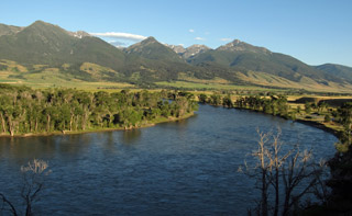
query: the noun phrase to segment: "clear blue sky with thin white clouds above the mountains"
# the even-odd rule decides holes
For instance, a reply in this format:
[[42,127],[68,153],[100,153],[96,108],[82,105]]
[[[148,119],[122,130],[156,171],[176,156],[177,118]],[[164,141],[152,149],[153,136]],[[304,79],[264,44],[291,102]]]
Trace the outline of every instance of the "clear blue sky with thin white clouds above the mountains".
[[211,48],[240,39],[308,65],[352,67],[351,0],[1,0],[0,23],[36,20],[119,46],[147,36]]

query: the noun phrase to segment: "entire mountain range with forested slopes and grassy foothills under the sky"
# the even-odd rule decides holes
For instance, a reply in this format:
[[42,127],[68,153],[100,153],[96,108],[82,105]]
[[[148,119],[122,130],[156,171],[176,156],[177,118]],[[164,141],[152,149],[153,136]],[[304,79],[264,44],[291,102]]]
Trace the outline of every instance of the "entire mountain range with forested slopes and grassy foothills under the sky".
[[[26,27],[0,24],[0,75],[13,62],[26,79],[55,68],[69,79],[133,83],[211,82],[280,88],[352,89],[352,68],[309,66],[292,56],[234,39],[216,49],[166,45],[154,37],[124,49],[89,35],[36,21]],[[12,66],[11,66],[12,65]],[[43,73],[44,75],[44,73]]]

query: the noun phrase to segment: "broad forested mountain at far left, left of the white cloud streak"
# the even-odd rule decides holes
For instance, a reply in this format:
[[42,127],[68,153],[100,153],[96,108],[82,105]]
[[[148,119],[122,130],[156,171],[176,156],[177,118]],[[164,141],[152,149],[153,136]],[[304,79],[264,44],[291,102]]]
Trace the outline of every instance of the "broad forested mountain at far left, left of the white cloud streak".
[[0,59],[21,64],[81,64],[84,61],[102,64],[114,69],[121,68],[124,54],[97,37],[81,38],[42,21],[24,27],[14,35],[0,37]]

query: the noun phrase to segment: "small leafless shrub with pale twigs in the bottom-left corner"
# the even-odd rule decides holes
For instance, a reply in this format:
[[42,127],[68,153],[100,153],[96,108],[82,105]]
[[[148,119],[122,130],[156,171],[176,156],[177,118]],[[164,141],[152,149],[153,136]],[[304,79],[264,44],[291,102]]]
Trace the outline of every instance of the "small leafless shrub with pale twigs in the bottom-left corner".
[[[48,169],[47,162],[34,159],[33,161],[30,161],[28,166],[22,166],[21,172],[23,177],[21,196],[25,202],[25,215],[31,216],[33,215],[33,202],[37,200],[37,195],[44,186],[45,177],[52,171]],[[2,211],[8,211],[14,216],[19,215],[14,205],[4,196],[4,194],[0,193],[0,197],[2,198]]]

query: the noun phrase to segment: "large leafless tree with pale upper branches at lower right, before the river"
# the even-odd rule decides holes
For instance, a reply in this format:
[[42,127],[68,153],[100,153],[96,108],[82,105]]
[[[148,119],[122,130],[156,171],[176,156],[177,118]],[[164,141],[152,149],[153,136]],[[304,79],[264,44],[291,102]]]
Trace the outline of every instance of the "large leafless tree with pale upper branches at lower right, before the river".
[[[320,179],[323,166],[317,166],[311,151],[300,151],[298,146],[283,150],[279,130],[276,135],[258,130],[257,134],[258,148],[252,154],[257,162],[252,167],[245,163],[245,169],[240,167],[239,171],[255,178],[260,185],[258,215],[266,216],[271,209],[275,216],[289,215],[304,195],[323,184]],[[273,197],[270,192],[274,192]],[[274,201],[274,205],[268,201]]]

